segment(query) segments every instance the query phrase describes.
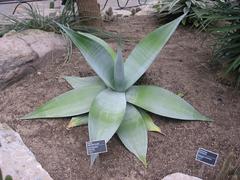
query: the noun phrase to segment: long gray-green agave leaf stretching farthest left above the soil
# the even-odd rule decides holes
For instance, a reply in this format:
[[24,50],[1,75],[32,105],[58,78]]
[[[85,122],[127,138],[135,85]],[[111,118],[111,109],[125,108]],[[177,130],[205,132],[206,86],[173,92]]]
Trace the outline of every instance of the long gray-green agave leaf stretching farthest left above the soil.
[[104,87],[88,86],[73,89],[53,98],[21,119],[69,117],[87,113],[93,99]]

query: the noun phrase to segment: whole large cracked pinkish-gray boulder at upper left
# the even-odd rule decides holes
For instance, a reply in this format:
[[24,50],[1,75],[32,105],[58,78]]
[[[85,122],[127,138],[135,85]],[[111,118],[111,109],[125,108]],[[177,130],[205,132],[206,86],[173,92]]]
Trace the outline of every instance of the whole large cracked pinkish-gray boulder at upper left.
[[0,90],[44,65],[49,54],[66,49],[66,41],[54,33],[26,30],[0,38]]

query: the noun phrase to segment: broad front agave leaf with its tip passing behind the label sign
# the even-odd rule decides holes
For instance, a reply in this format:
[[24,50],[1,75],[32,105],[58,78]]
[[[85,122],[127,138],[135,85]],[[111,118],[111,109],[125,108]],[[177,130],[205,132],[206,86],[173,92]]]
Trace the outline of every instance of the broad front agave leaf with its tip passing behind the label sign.
[[[93,101],[88,118],[90,141],[105,140],[108,142],[120,126],[126,109],[125,93],[110,89],[102,91]],[[94,163],[94,155],[91,165]]]

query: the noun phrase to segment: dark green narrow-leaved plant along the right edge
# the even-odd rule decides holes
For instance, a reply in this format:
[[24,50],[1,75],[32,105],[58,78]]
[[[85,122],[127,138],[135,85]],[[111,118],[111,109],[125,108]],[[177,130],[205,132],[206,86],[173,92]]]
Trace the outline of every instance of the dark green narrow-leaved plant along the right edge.
[[216,5],[201,12],[204,25],[215,24],[210,31],[216,37],[214,60],[226,67],[226,74],[236,74],[240,85],[240,3],[218,0]]

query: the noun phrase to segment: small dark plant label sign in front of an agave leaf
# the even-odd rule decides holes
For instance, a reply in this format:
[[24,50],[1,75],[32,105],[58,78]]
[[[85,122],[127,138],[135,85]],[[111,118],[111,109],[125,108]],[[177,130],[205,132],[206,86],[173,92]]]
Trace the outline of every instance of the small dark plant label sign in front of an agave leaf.
[[87,155],[99,154],[107,152],[107,144],[105,140],[86,142]]

